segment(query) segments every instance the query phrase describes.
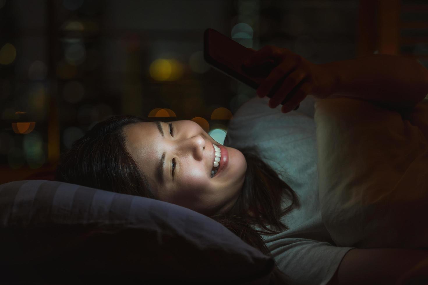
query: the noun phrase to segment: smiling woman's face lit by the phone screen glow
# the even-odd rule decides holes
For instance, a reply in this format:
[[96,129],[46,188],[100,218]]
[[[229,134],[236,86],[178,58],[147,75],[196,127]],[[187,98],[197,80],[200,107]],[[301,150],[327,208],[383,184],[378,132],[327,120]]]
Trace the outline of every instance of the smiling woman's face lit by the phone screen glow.
[[227,164],[223,162],[226,156],[222,150],[219,168],[222,162],[226,167],[211,178],[213,144],[220,144],[191,120],[169,123],[143,122],[124,127],[126,147],[148,177],[155,196],[205,215],[231,209],[244,184],[244,155],[225,147],[229,160]]

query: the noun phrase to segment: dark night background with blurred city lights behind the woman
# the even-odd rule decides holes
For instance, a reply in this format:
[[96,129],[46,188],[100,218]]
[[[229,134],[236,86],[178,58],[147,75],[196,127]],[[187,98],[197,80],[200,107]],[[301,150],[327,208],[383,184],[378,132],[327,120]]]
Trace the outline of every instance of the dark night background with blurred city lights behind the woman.
[[428,68],[426,0],[0,0],[0,183],[53,170],[112,115],[227,132],[256,92],[205,63],[207,28],[317,64],[385,53]]

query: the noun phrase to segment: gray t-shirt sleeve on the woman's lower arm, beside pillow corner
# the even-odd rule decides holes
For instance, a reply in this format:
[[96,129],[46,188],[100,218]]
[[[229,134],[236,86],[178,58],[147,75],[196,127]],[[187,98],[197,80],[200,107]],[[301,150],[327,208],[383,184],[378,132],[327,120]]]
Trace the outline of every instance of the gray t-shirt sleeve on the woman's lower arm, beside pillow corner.
[[266,245],[291,282],[318,285],[327,284],[345,254],[355,248],[302,238],[276,239]]

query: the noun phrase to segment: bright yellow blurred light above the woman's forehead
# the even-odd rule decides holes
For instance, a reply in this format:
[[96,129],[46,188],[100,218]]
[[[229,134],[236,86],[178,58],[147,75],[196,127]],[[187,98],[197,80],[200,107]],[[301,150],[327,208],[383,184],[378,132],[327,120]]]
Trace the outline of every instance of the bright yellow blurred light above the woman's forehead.
[[184,66],[175,59],[155,59],[149,68],[150,76],[157,81],[174,81],[183,75]]

